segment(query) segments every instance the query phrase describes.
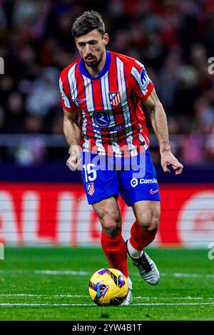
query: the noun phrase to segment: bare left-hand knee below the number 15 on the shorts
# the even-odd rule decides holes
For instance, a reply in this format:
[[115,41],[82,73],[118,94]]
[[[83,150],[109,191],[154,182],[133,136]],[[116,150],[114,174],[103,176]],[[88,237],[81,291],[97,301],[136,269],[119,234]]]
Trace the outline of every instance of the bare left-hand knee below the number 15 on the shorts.
[[122,220],[117,196],[108,197],[92,206],[103,227],[108,230],[121,229]]

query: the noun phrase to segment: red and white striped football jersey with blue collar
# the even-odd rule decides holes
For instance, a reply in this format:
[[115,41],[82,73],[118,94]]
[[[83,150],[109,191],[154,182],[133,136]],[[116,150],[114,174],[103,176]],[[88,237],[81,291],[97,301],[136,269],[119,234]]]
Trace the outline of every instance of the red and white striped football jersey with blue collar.
[[153,83],[136,59],[106,51],[106,64],[93,78],[78,58],[61,72],[59,86],[63,108],[78,111],[83,151],[127,157],[148,148],[141,102]]

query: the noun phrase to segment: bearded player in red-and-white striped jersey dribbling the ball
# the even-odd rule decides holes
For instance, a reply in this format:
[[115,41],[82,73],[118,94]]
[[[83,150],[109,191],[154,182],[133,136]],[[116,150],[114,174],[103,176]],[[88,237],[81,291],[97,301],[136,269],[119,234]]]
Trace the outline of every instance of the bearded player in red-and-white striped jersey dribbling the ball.
[[[79,16],[72,33],[81,58],[61,72],[59,81],[63,130],[71,154],[67,165],[71,170],[81,168],[88,203],[102,225],[101,245],[110,266],[128,277],[128,252],[141,277],[156,285],[160,275],[144,248],[156,237],[160,195],[141,103],[150,112],[164,172],[170,172],[171,165],[175,175],[180,175],[183,165],[170,151],[165,112],[143,64],[106,51],[109,36],[96,11]],[[132,164],[133,158],[136,160]],[[101,168],[101,162],[109,161],[111,168],[109,164]],[[136,216],[126,243],[121,234],[119,194]],[[124,304],[132,299],[129,277],[128,282]]]

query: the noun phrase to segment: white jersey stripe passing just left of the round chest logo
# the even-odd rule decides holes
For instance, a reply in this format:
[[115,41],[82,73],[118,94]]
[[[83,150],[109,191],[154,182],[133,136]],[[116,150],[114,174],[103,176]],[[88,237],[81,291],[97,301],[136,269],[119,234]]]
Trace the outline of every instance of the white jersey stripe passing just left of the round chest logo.
[[[96,123],[94,122],[93,119],[93,111],[94,109],[94,105],[93,105],[93,91],[92,91],[92,84],[91,84],[91,79],[87,78],[86,76],[83,76],[83,81],[84,81],[84,87],[85,87],[85,91],[86,91],[86,106],[87,106],[87,110],[88,113],[91,114],[91,120],[93,123],[93,127],[97,127]],[[106,150],[103,147],[103,143],[102,143],[102,136],[101,136],[101,131],[100,130],[96,130],[93,128],[93,133],[94,133],[94,137],[96,138],[96,147],[98,150],[98,153],[101,155],[106,155]]]

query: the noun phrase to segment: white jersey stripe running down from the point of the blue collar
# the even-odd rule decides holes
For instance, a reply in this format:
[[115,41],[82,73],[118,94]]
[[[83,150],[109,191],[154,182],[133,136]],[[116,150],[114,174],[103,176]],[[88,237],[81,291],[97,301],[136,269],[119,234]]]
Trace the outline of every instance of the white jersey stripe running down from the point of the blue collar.
[[[101,77],[101,94],[103,98],[103,108],[104,110],[108,111],[108,115],[110,117],[110,124],[109,127],[116,125],[114,116],[113,116],[113,110],[111,103],[108,98],[108,92],[109,92],[109,83],[108,83],[108,72],[105,76]],[[121,147],[118,145],[118,135],[114,131],[114,133],[110,133],[110,140],[111,140],[111,148],[113,150],[113,153],[115,153],[116,157],[121,157]]]

